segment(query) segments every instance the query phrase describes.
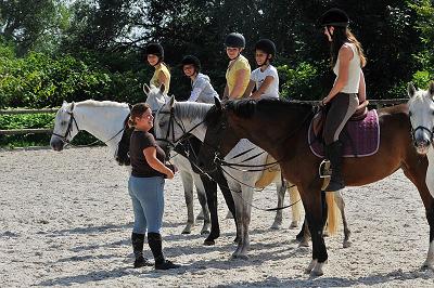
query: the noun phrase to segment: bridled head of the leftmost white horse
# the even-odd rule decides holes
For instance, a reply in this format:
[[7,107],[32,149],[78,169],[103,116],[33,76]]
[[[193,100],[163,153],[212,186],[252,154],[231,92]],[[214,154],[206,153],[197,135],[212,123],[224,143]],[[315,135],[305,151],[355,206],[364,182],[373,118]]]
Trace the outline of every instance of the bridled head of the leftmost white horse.
[[50,145],[54,150],[62,150],[65,143],[68,143],[78,133],[77,122],[74,118],[75,103],[62,104],[54,119],[54,128],[50,140]]

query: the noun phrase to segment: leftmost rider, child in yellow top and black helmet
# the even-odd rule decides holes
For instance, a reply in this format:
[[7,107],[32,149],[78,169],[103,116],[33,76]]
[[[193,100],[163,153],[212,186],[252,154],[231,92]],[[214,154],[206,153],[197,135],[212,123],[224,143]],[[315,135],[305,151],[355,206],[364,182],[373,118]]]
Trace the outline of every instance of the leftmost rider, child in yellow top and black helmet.
[[151,78],[150,84],[159,87],[165,86],[164,93],[169,92],[170,71],[164,63],[164,50],[158,43],[150,43],[146,47],[148,63],[155,68],[154,75]]

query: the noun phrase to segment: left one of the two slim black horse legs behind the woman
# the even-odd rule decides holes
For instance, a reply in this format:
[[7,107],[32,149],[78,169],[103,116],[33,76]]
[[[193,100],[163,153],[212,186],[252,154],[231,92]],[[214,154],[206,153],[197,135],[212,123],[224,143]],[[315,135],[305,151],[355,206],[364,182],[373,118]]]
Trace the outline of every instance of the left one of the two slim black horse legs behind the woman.
[[206,202],[208,205],[210,214],[210,232],[208,237],[204,240],[204,245],[215,245],[220,236],[220,225],[218,223],[218,212],[217,212],[217,184],[208,179],[207,175],[201,175],[202,183],[204,183]]

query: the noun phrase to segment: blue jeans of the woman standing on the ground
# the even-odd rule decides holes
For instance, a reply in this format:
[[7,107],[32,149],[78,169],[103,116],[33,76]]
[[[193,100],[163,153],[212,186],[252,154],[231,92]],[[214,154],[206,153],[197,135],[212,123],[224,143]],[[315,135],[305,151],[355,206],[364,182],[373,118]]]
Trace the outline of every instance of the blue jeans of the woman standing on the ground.
[[133,233],[158,233],[163,223],[164,212],[164,178],[137,178],[130,175],[128,192],[135,212]]

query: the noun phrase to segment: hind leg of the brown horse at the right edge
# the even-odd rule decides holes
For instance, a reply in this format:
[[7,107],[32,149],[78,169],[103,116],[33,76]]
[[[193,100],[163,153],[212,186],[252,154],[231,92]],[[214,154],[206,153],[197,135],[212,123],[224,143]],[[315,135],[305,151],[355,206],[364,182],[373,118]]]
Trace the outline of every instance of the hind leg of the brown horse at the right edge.
[[[414,159],[411,166],[403,165],[401,168],[406,176],[417,186],[419,194],[422,198],[423,206],[425,207],[425,214],[427,224],[430,225],[430,247],[427,250],[426,260],[422,265],[422,269],[429,269],[434,271],[434,195],[430,193],[426,186],[426,175],[433,173],[432,167],[427,165],[426,159]],[[434,187],[432,187],[433,189]]]

